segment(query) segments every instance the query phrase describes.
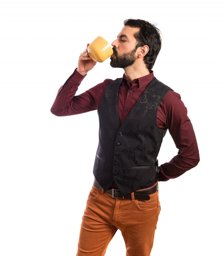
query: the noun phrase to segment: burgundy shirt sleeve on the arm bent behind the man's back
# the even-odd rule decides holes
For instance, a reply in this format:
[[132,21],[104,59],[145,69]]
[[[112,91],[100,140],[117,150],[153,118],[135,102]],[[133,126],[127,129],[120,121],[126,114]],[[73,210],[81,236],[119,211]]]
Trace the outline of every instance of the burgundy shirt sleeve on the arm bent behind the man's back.
[[195,167],[199,162],[199,150],[193,126],[180,95],[169,91],[161,102],[160,111],[164,112],[164,128],[168,128],[178,148],[178,154],[170,162],[159,166],[159,181],[166,181]]

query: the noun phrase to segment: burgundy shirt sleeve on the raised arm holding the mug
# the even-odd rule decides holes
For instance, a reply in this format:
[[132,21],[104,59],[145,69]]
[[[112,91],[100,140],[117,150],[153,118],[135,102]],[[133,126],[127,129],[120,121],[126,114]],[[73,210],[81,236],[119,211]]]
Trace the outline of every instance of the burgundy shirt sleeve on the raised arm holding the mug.
[[85,76],[82,76],[76,70],[74,71],[58,90],[51,108],[52,114],[56,116],[69,116],[98,109],[105,87],[111,79],[106,79],[103,83],[99,83],[82,94],[76,95],[78,86],[84,78]]

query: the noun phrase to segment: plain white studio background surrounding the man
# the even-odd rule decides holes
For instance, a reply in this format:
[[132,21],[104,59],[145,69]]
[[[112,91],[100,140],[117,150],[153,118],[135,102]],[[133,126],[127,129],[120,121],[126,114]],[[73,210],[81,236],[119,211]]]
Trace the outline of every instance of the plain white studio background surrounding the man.
[[[156,23],[154,74],[181,94],[201,161],[159,184],[152,256],[223,256],[222,1],[3,0],[0,3],[0,255],[74,256],[98,144],[97,112],[56,117],[50,108],[79,54],[109,42],[126,18]],[[98,63],[81,93],[121,77]],[[167,133],[159,163],[177,149]],[[96,241],[97,242],[97,241]],[[107,256],[125,255],[118,231]]]

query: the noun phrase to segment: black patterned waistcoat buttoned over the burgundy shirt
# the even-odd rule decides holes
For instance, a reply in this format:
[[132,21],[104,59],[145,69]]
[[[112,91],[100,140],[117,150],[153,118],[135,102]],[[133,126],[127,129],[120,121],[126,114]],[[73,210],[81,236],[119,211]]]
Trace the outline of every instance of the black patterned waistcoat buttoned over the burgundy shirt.
[[157,127],[156,117],[161,100],[171,89],[154,78],[121,125],[117,107],[121,82],[110,82],[99,104],[99,145],[93,173],[104,190],[115,182],[126,195],[158,180],[157,155],[164,132]]

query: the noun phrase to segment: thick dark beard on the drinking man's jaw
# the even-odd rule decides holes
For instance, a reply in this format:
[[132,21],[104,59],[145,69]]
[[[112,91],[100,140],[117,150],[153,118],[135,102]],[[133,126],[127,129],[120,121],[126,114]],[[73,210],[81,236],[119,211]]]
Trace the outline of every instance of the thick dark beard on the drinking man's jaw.
[[121,56],[118,56],[116,48],[113,47],[114,54],[110,57],[111,67],[121,67],[125,68],[134,64],[136,58],[134,56],[137,49],[133,49],[128,53],[124,53]]

